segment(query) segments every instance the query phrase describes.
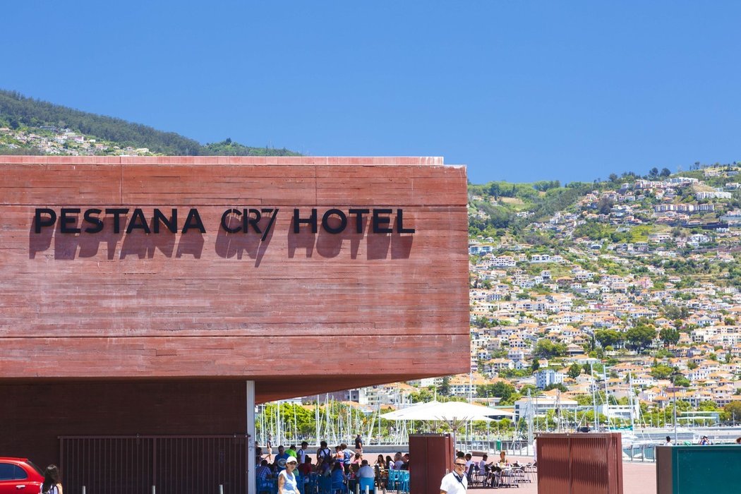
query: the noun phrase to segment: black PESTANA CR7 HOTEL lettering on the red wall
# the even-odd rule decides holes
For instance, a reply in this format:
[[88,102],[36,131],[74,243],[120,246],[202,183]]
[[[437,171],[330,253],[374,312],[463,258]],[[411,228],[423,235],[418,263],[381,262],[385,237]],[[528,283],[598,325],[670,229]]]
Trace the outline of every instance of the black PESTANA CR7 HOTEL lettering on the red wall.
[[[130,218],[129,213],[131,212]],[[227,233],[254,233],[268,235],[275,224],[279,208],[230,208],[224,211],[218,227]],[[182,215],[180,216],[182,218]],[[111,218],[110,224],[103,219]],[[301,210],[293,208],[293,233],[300,233],[302,227],[310,228],[311,233],[317,233],[319,227],[327,233],[342,233],[348,228],[348,218],[354,218],[355,232],[364,233],[363,225],[369,221],[370,233],[414,233],[414,228],[404,226],[404,210],[396,208],[336,208],[325,210],[320,218],[316,208]],[[267,220],[267,221],[263,221]],[[267,223],[267,224],[266,224]],[[79,207],[62,207],[59,211],[48,207],[37,207],[33,216],[34,233],[41,233],[46,228],[59,227],[59,233],[100,233],[105,228],[112,228],[113,233],[125,231],[127,234],[135,230],[144,233],[187,233],[188,230],[198,230],[206,233],[206,226],[196,208],[190,208],[182,224],[179,222],[177,208],[171,208],[169,215],[161,209],[154,208],[147,217],[144,210],[127,207],[91,207],[82,210]]]

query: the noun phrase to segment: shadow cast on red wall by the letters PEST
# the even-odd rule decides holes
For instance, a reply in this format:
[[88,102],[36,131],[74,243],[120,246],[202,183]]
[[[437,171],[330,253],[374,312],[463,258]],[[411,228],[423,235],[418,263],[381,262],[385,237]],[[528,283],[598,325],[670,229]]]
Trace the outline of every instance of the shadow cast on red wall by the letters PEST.
[[[113,233],[113,218],[105,218],[102,221],[104,228],[101,233],[84,233],[84,230],[82,233],[62,233],[62,224],[59,221],[53,229],[44,228],[41,233],[36,233],[34,220],[28,233],[28,257],[36,258],[37,253],[48,250],[53,239],[54,258],[57,260],[72,261],[77,257],[94,257],[102,243],[106,244],[107,258],[113,259],[116,255],[116,245],[124,234]],[[79,227],[79,224],[70,227]]]

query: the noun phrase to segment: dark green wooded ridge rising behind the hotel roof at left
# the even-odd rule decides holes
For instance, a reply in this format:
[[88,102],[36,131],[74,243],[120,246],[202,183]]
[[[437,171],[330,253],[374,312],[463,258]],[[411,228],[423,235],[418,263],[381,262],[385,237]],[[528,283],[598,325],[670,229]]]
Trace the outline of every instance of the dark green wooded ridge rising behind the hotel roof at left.
[[17,93],[0,90],[0,127],[67,128],[91,138],[111,141],[122,147],[147,148],[151,153],[175,156],[300,156],[287,149],[250,147],[231,139],[200,144],[173,132],[162,132],[147,125],[73,110],[59,104],[39,101]]

